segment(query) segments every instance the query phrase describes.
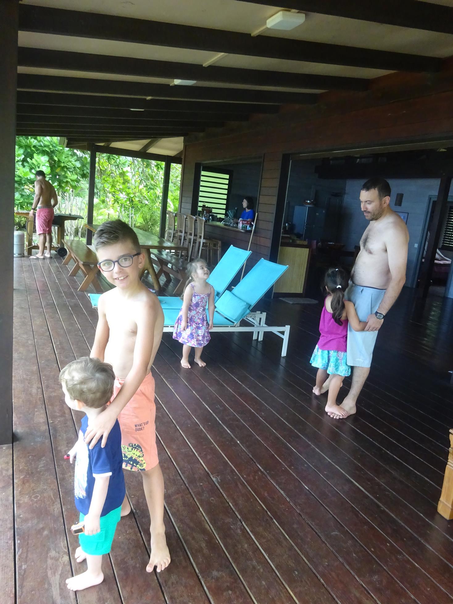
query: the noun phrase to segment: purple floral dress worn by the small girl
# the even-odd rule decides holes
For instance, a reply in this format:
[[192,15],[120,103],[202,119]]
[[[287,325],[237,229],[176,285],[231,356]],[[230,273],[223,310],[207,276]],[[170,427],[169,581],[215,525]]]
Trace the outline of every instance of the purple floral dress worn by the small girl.
[[211,292],[209,294],[197,294],[194,290],[193,283],[190,283],[190,286],[192,288],[192,300],[187,311],[187,327],[184,330],[181,329],[181,309],[178,318],[176,319],[175,328],[173,329],[173,339],[177,339],[181,344],[201,348],[211,339],[206,316],[206,305]]

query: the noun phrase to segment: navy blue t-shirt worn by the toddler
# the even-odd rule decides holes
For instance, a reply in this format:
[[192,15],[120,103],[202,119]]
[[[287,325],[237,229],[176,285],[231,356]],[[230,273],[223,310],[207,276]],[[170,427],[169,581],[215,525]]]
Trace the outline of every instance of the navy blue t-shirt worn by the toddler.
[[95,476],[110,476],[109,488],[101,516],[117,509],[126,495],[123,475],[123,453],[121,452],[121,429],[118,420],[111,429],[106,446],[101,447],[101,440],[92,449],[83,442],[88,417],[82,418],[77,440],[76,470],[74,472],[74,500],[76,508],[83,515],[88,514],[93,494]]

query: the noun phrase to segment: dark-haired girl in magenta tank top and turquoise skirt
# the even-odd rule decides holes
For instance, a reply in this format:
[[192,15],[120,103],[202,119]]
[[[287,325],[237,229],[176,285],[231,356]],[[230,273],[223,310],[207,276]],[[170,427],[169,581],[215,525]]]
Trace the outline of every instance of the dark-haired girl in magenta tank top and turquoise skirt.
[[345,409],[336,404],[343,379],[351,373],[346,362],[348,322],[356,332],[362,332],[367,324],[359,321],[354,304],[344,299],[348,275],[342,268],[330,268],[326,272],[324,287],[328,295],[321,312],[321,337],[310,359],[312,366],[318,367],[313,393],[323,394],[323,384],[330,375],[326,412],[334,413],[339,419],[348,415]]

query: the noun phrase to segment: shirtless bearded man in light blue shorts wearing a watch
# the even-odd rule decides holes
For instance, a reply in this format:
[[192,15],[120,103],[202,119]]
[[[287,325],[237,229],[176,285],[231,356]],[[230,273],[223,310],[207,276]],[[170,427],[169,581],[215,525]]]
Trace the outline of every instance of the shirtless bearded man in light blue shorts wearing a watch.
[[[348,327],[347,363],[354,369],[351,389],[340,406],[349,415],[356,413],[356,400],[370,373],[377,331],[406,281],[409,233],[389,207],[390,194],[390,185],[380,177],[370,178],[360,192],[362,212],[370,224],[360,241],[346,298],[367,327],[363,332]],[[328,387],[326,382],[323,391]],[[335,413],[329,415],[341,419]]]

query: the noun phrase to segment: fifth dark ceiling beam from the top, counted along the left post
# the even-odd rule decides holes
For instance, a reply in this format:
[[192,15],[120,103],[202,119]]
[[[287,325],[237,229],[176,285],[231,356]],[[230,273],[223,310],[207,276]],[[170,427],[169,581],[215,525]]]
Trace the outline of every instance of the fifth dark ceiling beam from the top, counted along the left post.
[[18,115],[73,115],[79,117],[111,117],[129,121],[202,121],[214,124],[219,121],[247,121],[247,114],[204,114],[199,112],[185,112],[178,114],[175,111],[130,111],[130,109],[103,109],[97,107],[69,107],[69,106],[46,106],[29,105],[18,103]]

